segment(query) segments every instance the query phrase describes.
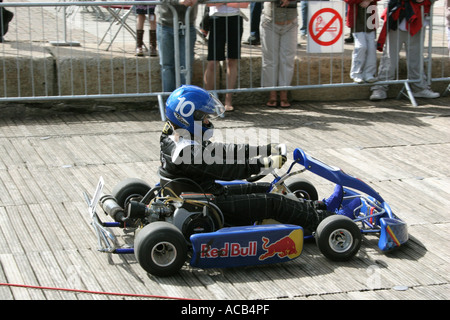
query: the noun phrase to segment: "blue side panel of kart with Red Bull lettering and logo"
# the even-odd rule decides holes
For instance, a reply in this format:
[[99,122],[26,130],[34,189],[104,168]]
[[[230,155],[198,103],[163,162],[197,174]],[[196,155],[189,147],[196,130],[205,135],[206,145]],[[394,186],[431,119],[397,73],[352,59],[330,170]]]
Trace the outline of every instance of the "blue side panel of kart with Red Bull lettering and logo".
[[223,228],[191,236],[191,265],[239,267],[289,261],[303,250],[303,229],[286,224]]

